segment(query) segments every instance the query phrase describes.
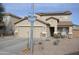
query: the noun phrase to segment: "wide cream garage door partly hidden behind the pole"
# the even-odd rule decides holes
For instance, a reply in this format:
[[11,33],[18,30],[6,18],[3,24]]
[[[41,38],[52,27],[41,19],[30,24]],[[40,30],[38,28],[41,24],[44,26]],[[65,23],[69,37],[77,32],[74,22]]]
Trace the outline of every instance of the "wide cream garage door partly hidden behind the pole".
[[[33,31],[34,38],[40,38],[41,32],[42,32],[41,26],[34,27],[34,31]],[[29,38],[29,34],[30,34],[30,27],[18,27],[19,37]]]

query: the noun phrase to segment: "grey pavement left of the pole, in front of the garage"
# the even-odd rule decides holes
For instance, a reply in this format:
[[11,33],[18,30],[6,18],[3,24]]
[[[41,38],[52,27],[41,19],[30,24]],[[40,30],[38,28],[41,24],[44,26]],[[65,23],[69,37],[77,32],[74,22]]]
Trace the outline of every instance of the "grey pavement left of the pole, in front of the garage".
[[15,39],[14,37],[0,38],[0,55],[24,54],[23,49],[27,47],[26,39]]

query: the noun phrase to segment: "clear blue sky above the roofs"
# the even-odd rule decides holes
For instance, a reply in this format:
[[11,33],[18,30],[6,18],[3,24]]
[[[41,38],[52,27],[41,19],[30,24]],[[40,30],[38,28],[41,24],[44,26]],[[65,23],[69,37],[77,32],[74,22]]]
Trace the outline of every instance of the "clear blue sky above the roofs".
[[[31,12],[31,3],[4,3],[5,12],[15,14],[20,17],[27,16]],[[71,11],[71,19],[74,24],[79,24],[79,4],[78,3],[36,3],[35,12],[63,12]]]

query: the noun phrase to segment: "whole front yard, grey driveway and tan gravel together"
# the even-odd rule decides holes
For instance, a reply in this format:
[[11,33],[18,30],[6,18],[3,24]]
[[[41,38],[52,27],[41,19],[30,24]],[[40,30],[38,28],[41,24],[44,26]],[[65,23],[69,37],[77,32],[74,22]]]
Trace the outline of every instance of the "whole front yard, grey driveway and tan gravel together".
[[[15,36],[0,37],[0,54],[24,55],[23,49],[27,47],[27,40]],[[79,38],[35,40],[34,55],[63,55],[79,51]]]

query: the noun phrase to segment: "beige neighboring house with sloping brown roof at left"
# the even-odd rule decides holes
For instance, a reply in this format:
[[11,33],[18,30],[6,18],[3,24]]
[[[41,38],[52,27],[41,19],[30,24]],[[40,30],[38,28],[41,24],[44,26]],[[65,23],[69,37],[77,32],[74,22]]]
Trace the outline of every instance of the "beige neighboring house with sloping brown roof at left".
[[3,22],[5,25],[5,35],[13,35],[15,31],[15,23],[21,18],[10,13],[3,13]]

